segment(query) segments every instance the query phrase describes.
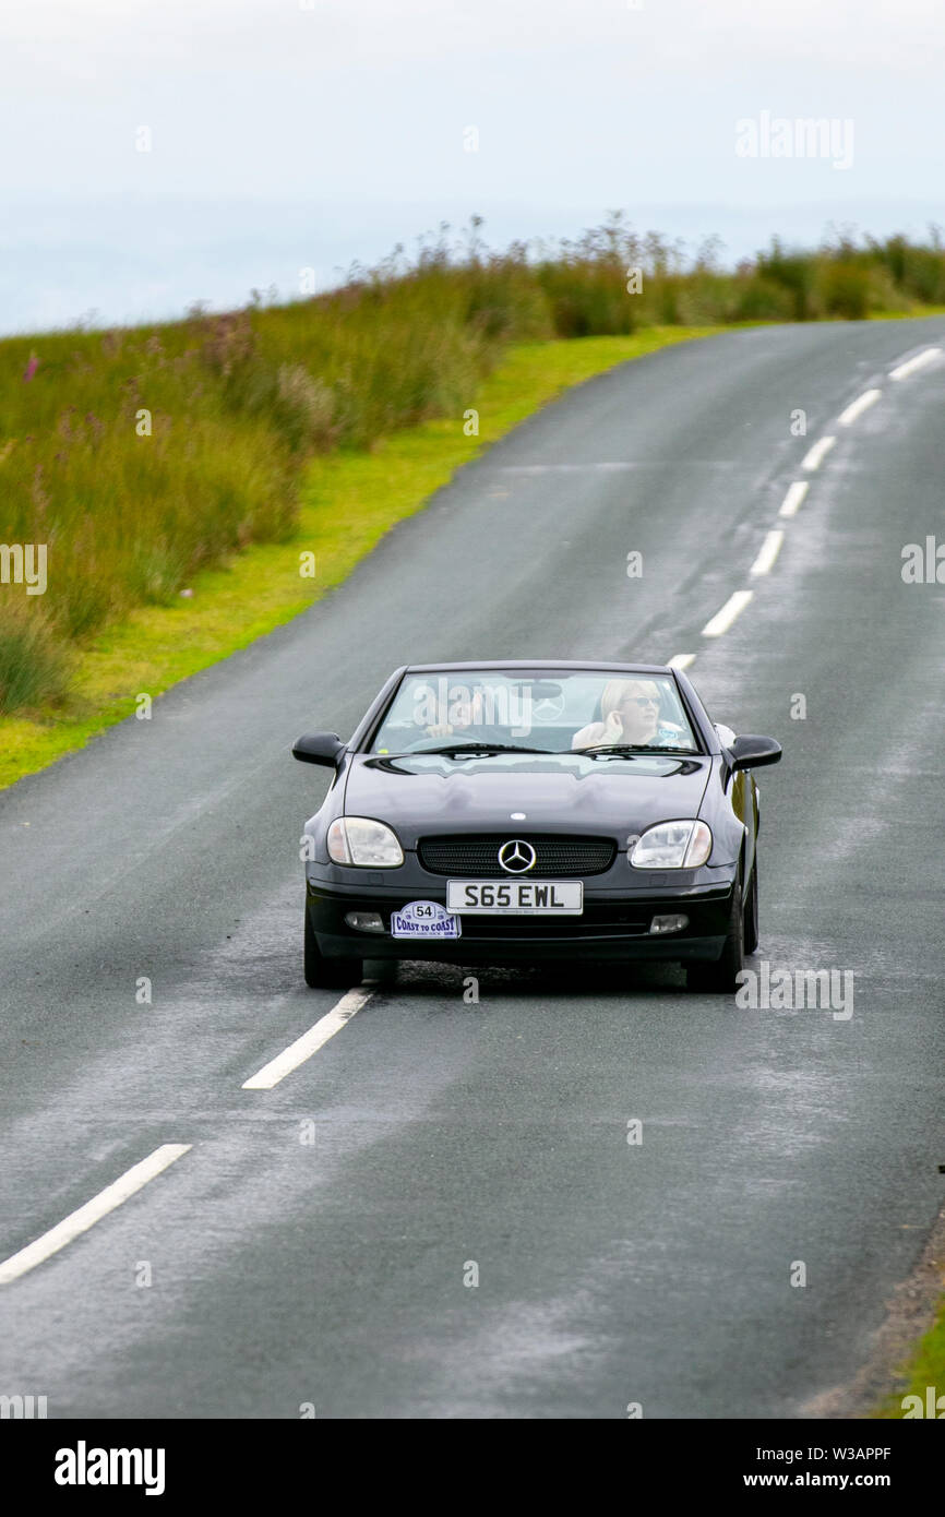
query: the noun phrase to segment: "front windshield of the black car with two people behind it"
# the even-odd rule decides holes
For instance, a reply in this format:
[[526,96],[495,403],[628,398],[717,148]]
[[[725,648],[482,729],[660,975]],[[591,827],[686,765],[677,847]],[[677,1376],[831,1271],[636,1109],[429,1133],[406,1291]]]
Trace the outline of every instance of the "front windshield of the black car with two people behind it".
[[572,752],[614,745],[699,751],[672,677],[554,669],[408,674],[370,751]]

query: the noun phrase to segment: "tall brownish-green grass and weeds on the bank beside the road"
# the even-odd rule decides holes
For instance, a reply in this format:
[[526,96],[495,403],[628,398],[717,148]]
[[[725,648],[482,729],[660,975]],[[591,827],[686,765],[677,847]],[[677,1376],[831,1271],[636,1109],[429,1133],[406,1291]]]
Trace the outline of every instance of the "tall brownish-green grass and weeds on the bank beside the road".
[[[629,288],[634,293],[628,293]],[[945,249],[777,241],[734,270],[620,215],[488,252],[473,218],[290,305],[0,341],[0,543],[46,543],[49,590],[0,584],[0,713],[68,692],[70,652],[193,573],[293,531],[308,457],[458,419],[514,341],[649,325],[857,319],[945,303]]]

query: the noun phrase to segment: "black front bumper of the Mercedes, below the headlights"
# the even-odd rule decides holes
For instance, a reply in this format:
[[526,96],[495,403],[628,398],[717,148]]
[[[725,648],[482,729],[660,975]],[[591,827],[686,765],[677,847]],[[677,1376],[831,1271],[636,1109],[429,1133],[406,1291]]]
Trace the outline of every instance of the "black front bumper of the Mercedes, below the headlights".
[[[350,871],[349,871],[350,872]],[[698,871],[705,875],[707,871]],[[696,874],[696,871],[693,871]],[[463,916],[461,938],[391,938],[390,913],[410,901],[446,906],[446,880],[413,889],[396,884],[329,883],[308,875],[306,910],[328,959],[423,959],[438,963],[538,963],[543,960],[716,960],[731,913],[736,866],[713,869],[711,883],[616,892],[584,881],[581,916]],[[663,875],[664,878],[664,875]],[[692,878],[692,877],[690,877]],[[344,921],[349,912],[376,912],[384,931],[361,931]],[[680,933],[651,934],[654,916],[684,912]]]

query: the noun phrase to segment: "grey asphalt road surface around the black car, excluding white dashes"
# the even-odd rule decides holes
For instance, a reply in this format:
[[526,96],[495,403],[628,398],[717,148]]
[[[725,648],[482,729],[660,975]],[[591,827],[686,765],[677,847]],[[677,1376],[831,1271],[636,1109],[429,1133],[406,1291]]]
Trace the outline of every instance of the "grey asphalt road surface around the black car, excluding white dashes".
[[[856,1373],[945,1183],[945,598],[901,578],[945,536],[945,358],[889,375],[943,338],[758,328],[595,379],[308,614],[0,796],[0,1259],[191,1145],[0,1285],[2,1393],[50,1417],[742,1418]],[[414,658],[683,652],[716,721],[784,745],[758,960],[846,971],[849,1019],[689,995],[673,966],[481,972],[472,1004],[463,969],[403,966],[243,1089],[338,1000],[302,983],[325,781],[300,731],[349,733]]]

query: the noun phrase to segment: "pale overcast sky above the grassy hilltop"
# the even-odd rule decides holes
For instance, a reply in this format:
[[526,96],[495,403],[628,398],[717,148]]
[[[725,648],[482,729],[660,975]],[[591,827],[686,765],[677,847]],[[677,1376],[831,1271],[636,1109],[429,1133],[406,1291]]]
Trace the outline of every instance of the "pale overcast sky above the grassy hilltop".
[[943,64],[942,0],[3,0],[0,329],[293,294],[473,212],[921,235]]

